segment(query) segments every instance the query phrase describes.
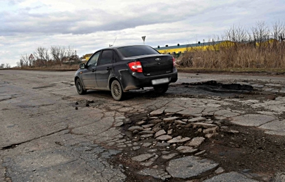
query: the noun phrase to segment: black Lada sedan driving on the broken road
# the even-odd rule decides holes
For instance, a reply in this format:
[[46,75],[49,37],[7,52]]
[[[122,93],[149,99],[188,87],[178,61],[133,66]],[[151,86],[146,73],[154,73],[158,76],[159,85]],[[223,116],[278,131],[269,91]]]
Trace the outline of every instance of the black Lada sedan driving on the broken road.
[[177,69],[172,55],[164,55],[150,46],[108,47],[96,51],[75,73],[77,92],[111,90],[115,100],[124,92],[153,87],[164,93],[177,81]]

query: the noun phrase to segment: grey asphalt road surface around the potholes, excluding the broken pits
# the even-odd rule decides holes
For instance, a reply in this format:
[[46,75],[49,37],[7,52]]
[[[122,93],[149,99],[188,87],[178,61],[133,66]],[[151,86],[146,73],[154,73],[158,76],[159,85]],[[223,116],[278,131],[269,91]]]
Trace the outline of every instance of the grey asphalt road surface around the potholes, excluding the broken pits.
[[[120,126],[132,122],[132,115],[146,116],[181,98],[180,92],[175,91],[178,84],[210,80],[247,83],[269,92],[274,91],[272,94],[282,94],[285,82],[284,76],[179,73],[178,82],[172,84],[167,95],[153,96],[151,90],[137,91],[132,92],[125,101],[116,102],[109,92],[90,91],[87,95],[78,95],[74,74],[73,71],[0,71],[0,181],[133,181],[127,164],[114,162],[115,156],[124,158],[122,151],[133,151],[131,148],[134,147],[132,137],[126,134],[126,128]],[[277,97],[282,98],[282,95]],[[208,98],[207,102],[213,99]],[[86,100],[94,101],[90,103],[92,107],[86,107]],[[75,105],[76,102],[78,105]],[[180,107],[180,102],[178,100],[169,107]],[[229,101],[210,104],[226,106],[226,102]],[[276,103],[280,104],[278,106],[271,107],[268,103],[262,107],[272,112],[267,113],[270,117],[276,114],[280,119],[283,117],[284,103],[279,101]],[[181,107],[185,108],[184,105]],[[227,118],[223,114],[220,117]],[[277,116],[265,119],[264,123],[276,119]],[[267,127],[263,129],[267,130]],[[283,135],[283,130],[270,131]],[[119,145],[106,144],[112,142]],[[161,175],[164,177],[148,180],[187,180],[173,175],[170,170],[167,172]],[[189,179],[193,178],[199,180],[201,176],[197,175],[196,178],[194,175]]]

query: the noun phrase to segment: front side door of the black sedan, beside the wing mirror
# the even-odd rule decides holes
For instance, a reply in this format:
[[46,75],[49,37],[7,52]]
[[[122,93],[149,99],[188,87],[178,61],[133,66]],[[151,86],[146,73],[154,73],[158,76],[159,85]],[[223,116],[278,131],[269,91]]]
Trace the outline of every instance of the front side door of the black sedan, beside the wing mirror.
[[98,87],[96,84],[96,66],[100,52],[96,52],[86,63],[86,68],[82,71],[82,82],[85,88]]

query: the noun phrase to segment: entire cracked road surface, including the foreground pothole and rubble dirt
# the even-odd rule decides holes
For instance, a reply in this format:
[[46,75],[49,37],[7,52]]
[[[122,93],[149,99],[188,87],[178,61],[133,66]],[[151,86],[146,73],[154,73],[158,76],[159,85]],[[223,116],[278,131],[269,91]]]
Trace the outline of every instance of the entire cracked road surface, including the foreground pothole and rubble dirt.
[[122,102],[73,76],[0,71],[0,181],[285,181],[282,75],[179,73]]

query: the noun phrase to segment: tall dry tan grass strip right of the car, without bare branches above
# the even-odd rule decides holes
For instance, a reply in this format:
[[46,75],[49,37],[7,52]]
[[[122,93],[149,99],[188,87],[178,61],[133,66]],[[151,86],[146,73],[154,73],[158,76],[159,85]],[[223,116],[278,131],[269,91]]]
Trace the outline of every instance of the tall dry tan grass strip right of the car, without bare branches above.
[[285,42],[254,46],[237,44],[217,51],[186,52],[178,62],[180,68],[198,69],[285,69]]

